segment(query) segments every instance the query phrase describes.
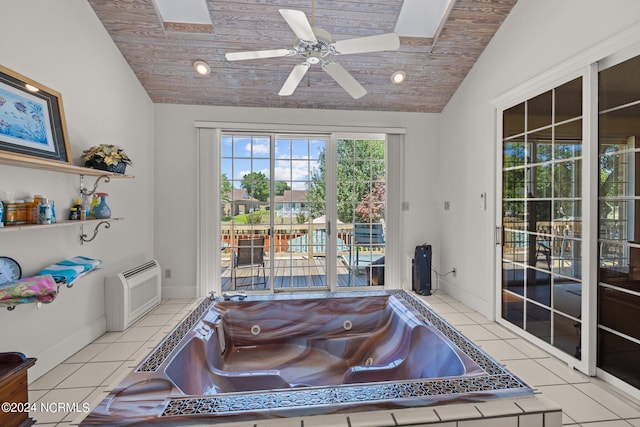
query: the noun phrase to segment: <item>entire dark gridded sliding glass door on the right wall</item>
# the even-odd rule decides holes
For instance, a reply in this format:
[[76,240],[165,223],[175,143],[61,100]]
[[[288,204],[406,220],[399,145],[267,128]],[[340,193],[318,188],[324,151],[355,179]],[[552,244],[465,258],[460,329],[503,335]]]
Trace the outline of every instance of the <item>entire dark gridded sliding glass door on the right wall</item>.
[[497,225],[501,319],[637,394],[640,56],[629,57],[501,112]]

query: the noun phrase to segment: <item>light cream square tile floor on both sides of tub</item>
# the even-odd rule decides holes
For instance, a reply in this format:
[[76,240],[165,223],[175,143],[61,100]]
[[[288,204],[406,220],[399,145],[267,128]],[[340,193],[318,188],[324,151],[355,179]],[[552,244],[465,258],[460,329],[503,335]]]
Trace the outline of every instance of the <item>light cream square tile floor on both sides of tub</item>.
[[[570,369],[447,295],[436,292],[421,298],[511,372],[561,406],[563,425],[640,427],[640,401]],[[29,400],[36,406],[40,402],[67,404],[59,410],[32,413],[38,425],[69,426],[81,420],[86,415],[82,405],[95,405],[106,396],[195,304],[195,300],[163,301],[128,330],[102,335],[30,384]],[[74,403],[76,408],[69,407]],[[326,425],[331,425],[331,417],[327,416]],[[280,420],[278,425],[288,424]]]

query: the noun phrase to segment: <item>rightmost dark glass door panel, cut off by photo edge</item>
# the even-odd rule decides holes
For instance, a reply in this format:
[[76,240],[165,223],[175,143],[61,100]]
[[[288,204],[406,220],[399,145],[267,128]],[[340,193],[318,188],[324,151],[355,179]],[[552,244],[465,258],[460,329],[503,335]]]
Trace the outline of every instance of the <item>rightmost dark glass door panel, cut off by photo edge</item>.
[[640,57],[599,73],[600,369],[640,388]]

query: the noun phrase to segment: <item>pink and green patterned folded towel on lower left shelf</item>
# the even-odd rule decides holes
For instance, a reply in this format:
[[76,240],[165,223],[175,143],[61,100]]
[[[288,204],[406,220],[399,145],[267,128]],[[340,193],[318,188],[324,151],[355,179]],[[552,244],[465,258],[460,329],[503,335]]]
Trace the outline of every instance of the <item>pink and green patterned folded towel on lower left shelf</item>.
[[25,277],[0,285],[0,303],[16,305],[28,302],[51,302],[58,295],[58,285],[49,274]]

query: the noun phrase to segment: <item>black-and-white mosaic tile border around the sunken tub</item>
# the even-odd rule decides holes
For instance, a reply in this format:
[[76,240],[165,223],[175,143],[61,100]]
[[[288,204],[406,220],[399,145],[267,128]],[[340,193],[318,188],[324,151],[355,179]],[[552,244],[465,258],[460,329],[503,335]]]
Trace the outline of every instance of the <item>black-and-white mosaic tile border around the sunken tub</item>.
[[[340,297],[355,293],[322,293],[323,297]],[[362,295],[359,293],[358,295]],[[341,385],[294,390],[270,390],[255,393],[227,393],[204,397],[170,398],[161,417],[222,415],[247,411],[287,410],[301,407],[336,406],[340,404],[380,403],[398,400],[437,400],[437,397],[486,394],[511,391],[515,394],[530,394],[531,389],[513,374],[491,359],[455,328],[435,314],[429,307],[407,291],[372,292],[367,295],[395,295],[416,309],[425,318],[425,323],[442,332],[449,340],[473,359],[486,375],[453,377],[446,379],[424,379],[388,382],[373,385]],[[308,296],[308,295],[307,295]],[[299,296],[297,296],[299,297]],[[257,299],[277,299],[265,296]],[[286,298],[283,298],[286,299]],[[191,327],[209,308],[212,301],[203,301],[162,345],[138,368],[138,372],[157,370],[169,353],[177,346]]]

